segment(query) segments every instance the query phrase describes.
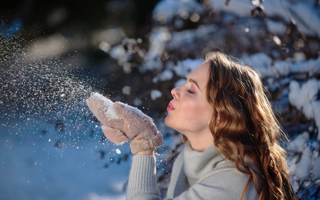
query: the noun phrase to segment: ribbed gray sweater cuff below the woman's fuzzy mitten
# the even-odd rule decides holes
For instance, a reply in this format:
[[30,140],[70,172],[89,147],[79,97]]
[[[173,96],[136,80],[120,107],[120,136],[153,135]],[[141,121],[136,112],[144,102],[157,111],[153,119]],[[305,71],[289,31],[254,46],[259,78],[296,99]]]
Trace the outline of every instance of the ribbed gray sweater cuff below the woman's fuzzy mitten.
[[156,186],[156,157],[134,155],[130,169],[127,192],[159,193]]

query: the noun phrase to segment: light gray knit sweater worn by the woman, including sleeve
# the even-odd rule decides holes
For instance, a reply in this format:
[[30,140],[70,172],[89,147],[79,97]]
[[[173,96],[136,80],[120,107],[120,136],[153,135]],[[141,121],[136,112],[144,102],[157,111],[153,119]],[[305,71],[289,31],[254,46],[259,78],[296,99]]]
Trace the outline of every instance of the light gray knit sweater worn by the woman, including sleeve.
[[[247,157],[245,162],[258,171]],[[192,149],[188,140],[174,161],[165,199],[240,199],[248,179],[249,175],[239,172],[234,162],[220,157],[213,144],[198,152]],[[160,199],[155,156],[133,156],[126,199]],[[258,199],[253,181],[244,199]]]

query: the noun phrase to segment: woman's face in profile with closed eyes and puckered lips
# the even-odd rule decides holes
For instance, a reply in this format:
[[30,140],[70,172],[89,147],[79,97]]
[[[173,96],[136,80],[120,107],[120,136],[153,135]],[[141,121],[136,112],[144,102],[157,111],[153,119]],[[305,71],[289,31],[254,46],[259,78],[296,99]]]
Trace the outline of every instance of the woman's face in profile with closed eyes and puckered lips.
[[187,137],[189,132],[210,131],[209,122],[213,110],[204,92],[204,87],[208,82],[208,73],[209,63],[204,62],[188,76],[187,83],[172,89],[173,99],[170,103],[174,109],[168,111],[164,124]]

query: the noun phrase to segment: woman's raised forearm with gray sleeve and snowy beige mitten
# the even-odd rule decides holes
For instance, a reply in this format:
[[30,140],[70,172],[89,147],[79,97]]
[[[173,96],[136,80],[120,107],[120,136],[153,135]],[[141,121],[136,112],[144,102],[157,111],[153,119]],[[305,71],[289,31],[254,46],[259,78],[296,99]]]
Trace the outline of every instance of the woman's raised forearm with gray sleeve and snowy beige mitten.
[[120,145],[130,140],[131,153],[136,155],[129,176],[128,199],[160,199],[154,150],[163,145],[163,138],[153,119],[138,108],[113,103],[97,93],[87,100],[87,105],[103,124],[102,131],[109,141]]

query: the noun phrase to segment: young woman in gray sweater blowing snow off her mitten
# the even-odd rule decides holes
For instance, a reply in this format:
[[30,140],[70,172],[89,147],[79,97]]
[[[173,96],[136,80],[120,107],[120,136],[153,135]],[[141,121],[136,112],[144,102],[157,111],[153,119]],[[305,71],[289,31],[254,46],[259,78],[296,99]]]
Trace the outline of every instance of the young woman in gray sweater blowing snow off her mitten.
[[[227,54],[210,52],[171,93],[164,123],[182,133],[184,146],[166,199],[297,199],[289,156],[278,143],[289,139],[259,74]],[[163,138],[153,120],[127,104],[106,104],[102,96],[90,97],[87,104],[111,142],[131,140],[135,155],[127,199],[160,199],[154,150]]]

